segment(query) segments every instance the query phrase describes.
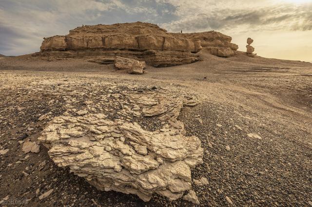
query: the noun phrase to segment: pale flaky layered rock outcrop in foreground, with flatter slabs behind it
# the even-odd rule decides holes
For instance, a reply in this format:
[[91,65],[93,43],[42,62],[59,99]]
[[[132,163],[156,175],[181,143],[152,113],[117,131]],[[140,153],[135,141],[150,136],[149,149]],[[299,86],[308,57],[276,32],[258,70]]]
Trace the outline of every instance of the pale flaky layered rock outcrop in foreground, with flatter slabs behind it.
[[[191,189],[190,168],[202,163],[203,150],[197,137],[185,136],[184,124],[176,118],[183,106],[198,101],[168,91],[128,91],[100,100],[109,97],[123,103],[117,114],[126,119],[112,120],[87,110],[56,117],[39,137],[50,157],[98,190],[133,193],[144,201],[153,193],[172,200],[182,197]],[[131,116],[157,117],[166,124],[147,131],[128,121]]]

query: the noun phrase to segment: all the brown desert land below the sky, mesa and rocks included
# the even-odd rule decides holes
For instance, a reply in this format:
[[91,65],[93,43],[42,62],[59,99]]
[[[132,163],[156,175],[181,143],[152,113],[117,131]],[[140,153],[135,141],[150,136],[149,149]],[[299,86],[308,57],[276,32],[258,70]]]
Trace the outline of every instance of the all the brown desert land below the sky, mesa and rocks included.
[[83,25],[1,56],[0,204],[312,206],[312,63],[247,38]]

